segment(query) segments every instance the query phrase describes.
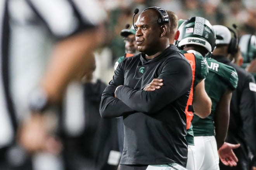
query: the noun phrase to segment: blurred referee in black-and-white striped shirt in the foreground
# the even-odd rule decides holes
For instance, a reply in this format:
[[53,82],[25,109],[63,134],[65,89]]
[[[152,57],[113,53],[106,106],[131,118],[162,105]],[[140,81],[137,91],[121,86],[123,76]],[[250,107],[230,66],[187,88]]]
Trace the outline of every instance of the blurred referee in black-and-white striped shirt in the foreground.
[[[8,51],[3,55],[2,73],[10,80],[5,82],[4,92],[12,92],[6,101],[10,105],[13,100],[17,119],[23,122],[19,141],[29,153],[47,151],[58,155],[62,146],[49,131],[42,113],[56,106],[69,82],[81,79],[90,66],[91,53],[100,42],[104,10],[95,0],[8,0],[6,4],[8,8],[1,11],[8,9],[3,20],[10,24],[10,38],[6,38],[8,32],[2,38],[10,48],[9,55]],[[97,15],[90,9],[95,9]],[[35,169],[45,167],[47,164]],[[48,169],[55,168],[61,169]]]

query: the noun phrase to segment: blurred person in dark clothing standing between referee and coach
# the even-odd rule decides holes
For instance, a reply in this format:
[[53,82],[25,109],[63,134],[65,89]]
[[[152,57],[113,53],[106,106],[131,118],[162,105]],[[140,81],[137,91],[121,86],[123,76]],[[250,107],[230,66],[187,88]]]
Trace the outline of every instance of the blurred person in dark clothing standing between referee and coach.
[[82,83],[73,81],[64,98],[60,136],[65,169],[116,170],[119,159],[112,160],[118,150],[116,119],[100,117],[107,85],[94,75],[95,60],[90,63]]

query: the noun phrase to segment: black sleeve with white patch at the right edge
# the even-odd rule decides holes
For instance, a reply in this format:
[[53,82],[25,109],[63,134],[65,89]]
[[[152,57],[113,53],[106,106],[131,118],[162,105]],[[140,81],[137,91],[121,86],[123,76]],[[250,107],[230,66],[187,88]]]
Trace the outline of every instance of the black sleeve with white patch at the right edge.
[[241,102],[239,105],[240,114],[243,123],[243,129],[245,132],[246,141],[249,147],[255,151],[256,150],[256,84],[253,76],[247,77],[247,81],[244,84]]

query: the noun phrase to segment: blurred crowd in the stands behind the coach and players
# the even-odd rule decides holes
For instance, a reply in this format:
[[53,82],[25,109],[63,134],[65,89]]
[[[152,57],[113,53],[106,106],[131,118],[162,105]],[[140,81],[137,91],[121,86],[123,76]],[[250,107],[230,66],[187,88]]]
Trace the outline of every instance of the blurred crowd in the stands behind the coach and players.
[[[239,36],[256,32],[254,0],[102,0],[101,3],[108,14],[106,47],[110,49],[112,63],[124,54],[124,43],[120,39],[120,31],[126,24],[132,24],[131,16],[135,8],[141,12],[147,7],[159,6],[175,12],[178,19],[202,16],[212,25],[232,27],[232,24],[236,24]],[[110,67],[112,68],[111,65]],[[106,76],[102,76],[104,77]]]

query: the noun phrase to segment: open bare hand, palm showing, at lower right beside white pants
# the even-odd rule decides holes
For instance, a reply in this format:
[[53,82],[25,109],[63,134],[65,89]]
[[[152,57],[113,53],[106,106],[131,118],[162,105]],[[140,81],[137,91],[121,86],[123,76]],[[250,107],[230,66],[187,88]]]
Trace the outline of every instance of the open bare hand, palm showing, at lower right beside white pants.
[[239,148],[240,144],[231,144],[224,142],[223,145],[219,148],[218,154],[220,157],[221,162],[226,166],[237,166],[237,156],[235,156],[235,153],[233,149]]

